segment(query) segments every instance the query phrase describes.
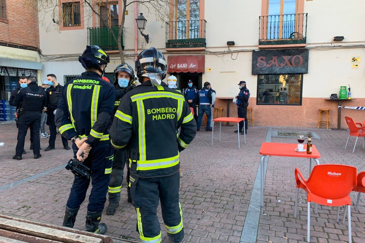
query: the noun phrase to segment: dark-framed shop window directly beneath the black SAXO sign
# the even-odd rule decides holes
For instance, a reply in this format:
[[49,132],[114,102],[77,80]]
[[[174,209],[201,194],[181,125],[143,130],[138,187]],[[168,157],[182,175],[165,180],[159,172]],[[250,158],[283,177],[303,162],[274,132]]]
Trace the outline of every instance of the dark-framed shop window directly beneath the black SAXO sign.
[[301,105],[303,74],[257,75],[257,105]]

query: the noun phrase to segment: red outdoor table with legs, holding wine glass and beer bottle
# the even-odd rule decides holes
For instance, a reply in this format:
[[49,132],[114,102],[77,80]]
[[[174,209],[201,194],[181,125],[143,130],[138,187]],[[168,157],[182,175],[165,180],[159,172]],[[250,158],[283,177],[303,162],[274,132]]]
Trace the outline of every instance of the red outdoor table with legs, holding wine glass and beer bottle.
[[[297,152],[295,149],[298,148],[298,144],[284,144],[276,142],[263,142],[260,148],[260,167],[261,167],[261,207],[264,207],[264,187],[265,187],[265,157],[267,156],[282,156],[282,157],[300,157],[309,158],[309,173],[312,171],[312,158],[319,165],[318,158],[320,154],[316,149],[316,146],[312,145],[312,153],[307,154],[306,152]],[[304,144],[304,149],[307,150],[307,144]]]

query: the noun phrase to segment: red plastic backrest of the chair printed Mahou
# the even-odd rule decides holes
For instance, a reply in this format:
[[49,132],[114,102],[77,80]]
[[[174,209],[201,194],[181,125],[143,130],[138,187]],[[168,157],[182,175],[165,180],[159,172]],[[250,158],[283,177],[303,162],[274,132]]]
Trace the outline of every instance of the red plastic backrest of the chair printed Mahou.
[[348,196],[356,186],[356,172],[356,168],[349,165],[316,165],[307,185],[314,195],[326,199],[340,199]]

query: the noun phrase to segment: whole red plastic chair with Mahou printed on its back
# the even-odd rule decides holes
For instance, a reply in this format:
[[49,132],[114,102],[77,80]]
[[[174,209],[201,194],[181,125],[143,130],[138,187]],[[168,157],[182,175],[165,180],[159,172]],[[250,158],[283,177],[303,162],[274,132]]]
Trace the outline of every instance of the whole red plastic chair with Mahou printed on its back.
[[[351,239],[350,192],[357,184],[356,168],[348,165],[316,165],[308,180],[295,168],[296,199],[294,217],[297,216],[299,188],[307,192],[307,242],[310,242],[311,201],[326,206],[347,205],[349,210],[349,242]],[[300,177],[300,178],[299,178]]]

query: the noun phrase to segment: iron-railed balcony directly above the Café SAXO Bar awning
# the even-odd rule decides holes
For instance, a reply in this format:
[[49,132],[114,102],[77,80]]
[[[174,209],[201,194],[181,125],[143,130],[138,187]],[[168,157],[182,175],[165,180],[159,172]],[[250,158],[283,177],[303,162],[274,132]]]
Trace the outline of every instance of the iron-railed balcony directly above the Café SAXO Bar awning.
[[204,19],[166,22],[166,50],[180,48],[205,50],[206,23]]

